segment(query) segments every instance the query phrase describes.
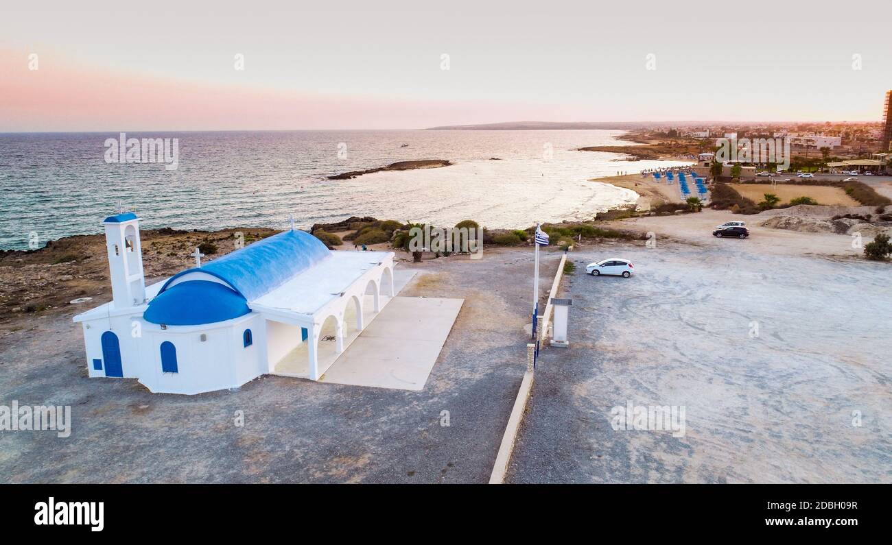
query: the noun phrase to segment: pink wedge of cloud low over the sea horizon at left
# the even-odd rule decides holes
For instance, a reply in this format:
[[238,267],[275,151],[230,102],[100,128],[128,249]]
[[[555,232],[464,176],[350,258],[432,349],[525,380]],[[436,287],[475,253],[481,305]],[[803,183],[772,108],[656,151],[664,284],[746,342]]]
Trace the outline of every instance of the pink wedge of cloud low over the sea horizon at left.
[[486,102],[331,96],[210,84],[60,63],[0,50],[0,131],[420,128],[522,116]]

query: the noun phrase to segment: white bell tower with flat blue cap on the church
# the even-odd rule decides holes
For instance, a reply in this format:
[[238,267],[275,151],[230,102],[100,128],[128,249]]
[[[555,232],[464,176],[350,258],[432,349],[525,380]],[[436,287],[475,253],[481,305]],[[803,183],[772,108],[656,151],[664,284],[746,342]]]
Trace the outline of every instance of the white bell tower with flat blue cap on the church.
[[105,249],[111,271],[111,305],[127,308],[145,303],[143,248],[139,218],[133,212],[106,217]]

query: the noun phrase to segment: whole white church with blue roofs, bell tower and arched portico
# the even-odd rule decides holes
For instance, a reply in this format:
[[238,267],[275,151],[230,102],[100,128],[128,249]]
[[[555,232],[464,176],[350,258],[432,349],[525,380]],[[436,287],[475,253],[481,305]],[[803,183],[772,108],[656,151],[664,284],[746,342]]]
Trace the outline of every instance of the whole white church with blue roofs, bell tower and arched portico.
[[[145,286],[139,218],[103,222],[111,302],[81,324],[90,377],[200,394],[264,374],[318,380],[394,296],[393,253],[285,231]],[[197,252],[196,252],[197,254]]]

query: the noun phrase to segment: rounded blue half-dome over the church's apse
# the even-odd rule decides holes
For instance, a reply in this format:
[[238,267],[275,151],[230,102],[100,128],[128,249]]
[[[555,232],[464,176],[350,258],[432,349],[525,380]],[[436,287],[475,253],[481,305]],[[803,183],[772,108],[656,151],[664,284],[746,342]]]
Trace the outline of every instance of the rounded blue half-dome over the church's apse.
[[250,313],[244,297],[214,281],[185,281],[149,302],[143,318],[165,325],[201,325]]

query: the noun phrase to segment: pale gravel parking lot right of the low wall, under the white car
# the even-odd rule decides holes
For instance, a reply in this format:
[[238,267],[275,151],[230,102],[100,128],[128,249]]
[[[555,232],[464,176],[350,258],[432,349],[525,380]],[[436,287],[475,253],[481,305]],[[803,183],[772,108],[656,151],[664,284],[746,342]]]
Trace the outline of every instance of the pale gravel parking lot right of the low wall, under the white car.
[[[892,482],[888,264],[763,236],[571,254],[570,347],[542,353],[508,481]],[[611,255],[637,274],[579,273]],[[629,401],[685,407],[685,435],[615,431]]]

